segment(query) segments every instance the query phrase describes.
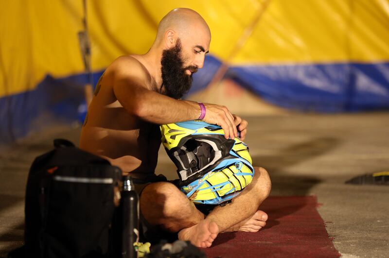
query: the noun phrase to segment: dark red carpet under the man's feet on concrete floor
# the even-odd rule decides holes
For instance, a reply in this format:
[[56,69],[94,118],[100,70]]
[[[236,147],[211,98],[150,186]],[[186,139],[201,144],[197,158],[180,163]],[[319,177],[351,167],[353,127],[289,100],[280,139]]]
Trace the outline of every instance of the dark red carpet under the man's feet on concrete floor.
[[269,197],[261,209],[269,215],[257,233],[230,232],[203,249],[208,258],[337,258],[315,196]]

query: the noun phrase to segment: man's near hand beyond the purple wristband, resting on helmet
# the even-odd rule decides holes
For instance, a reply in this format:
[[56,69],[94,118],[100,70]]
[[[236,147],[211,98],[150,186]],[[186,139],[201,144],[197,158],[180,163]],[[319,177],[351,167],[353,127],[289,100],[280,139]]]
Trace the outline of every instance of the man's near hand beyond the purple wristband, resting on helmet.
[[[238,137],[238,130],[236,125],[240,124],[242,119],[239,117],[239,123],[235,122],[235,117],[231,114],[230,110],[226,106],[204,103],[206,108],[205,118],[203,119],[207,123],[220,125],[224,130],[224,137],[226,139],[233,139]],[[246,122],[246,121],[245,121]],[[246,130],[246,125],[243,125]],[[246,135],[246,132],[245,132]]]

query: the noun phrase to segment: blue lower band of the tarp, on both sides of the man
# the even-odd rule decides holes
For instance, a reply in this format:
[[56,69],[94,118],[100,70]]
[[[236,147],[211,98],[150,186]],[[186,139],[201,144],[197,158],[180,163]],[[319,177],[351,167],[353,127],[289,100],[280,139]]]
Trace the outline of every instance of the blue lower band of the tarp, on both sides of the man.
[[[194,75],[189,94],[204,89],[221,62],[207,56],[204,69]],[[103,71],[93,74],[97,82]],[[252,65],[230,67],[225,77],[269,103],[316,112],[389,109],[389,63],[315,65]],[[86,108],[85,74],[66,78],[48,75],[36,88],[0,98],[0,142],[7,143],[39,126],[44,114],[56,119],[82,121]],[[45,120],[39,120],[39,123]],[[53,121],[47,120],[47,123]]]

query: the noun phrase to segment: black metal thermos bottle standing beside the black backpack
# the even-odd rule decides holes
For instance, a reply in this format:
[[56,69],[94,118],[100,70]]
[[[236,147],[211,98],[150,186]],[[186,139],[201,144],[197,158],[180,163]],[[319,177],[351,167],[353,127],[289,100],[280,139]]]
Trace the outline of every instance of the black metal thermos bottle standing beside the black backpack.
[[129,175],[123,176],[122,210],[122,258],[137,258],[134,242],[139,235],[139,196]]

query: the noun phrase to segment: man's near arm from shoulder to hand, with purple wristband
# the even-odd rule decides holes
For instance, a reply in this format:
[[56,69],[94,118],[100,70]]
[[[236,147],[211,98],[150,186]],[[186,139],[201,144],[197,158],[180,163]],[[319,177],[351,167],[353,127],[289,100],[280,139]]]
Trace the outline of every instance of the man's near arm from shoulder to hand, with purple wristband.
[[[157,124],[195,120],[200,115],[196,102],[176,100],[146,88],[150,80],[145,68],[134,58],[119,64],[114,74],[113,90],[118,101],[131,114]],[[227,107],[205,104],[205,122],[220,125],[226,138],[237,136],[234,117]]]

